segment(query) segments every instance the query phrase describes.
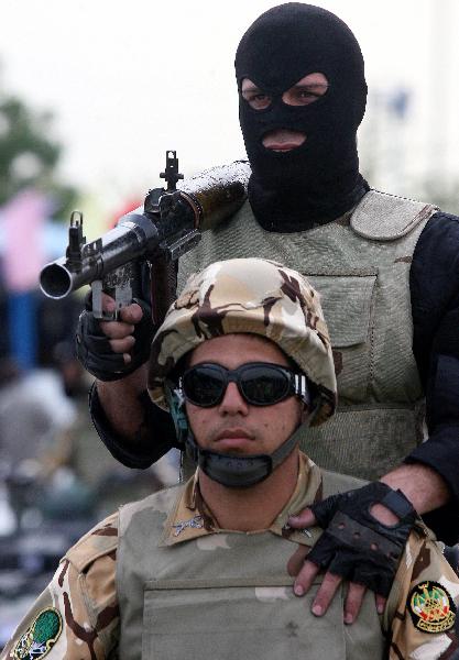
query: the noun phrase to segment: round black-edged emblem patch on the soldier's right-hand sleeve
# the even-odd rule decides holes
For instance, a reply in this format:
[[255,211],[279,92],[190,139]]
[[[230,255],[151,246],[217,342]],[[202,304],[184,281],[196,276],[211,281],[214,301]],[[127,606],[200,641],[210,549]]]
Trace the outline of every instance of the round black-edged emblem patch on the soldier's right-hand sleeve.
[[415,628],[422,632],[445,632],[455,625],[456,605],[439,582],[426,580],[416,584],[409,593],[407,607]]

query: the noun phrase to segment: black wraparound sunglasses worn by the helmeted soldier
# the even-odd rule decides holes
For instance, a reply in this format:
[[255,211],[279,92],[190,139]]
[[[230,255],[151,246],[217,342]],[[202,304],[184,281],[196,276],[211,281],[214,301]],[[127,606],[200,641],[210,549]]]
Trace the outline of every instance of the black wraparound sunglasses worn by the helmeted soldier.
[[248,362],[234,370],[214,363],[197,364],[184,373],[179,387],[189,403],[211,408],[222,400],[229,383],[236,383],[252,406],[272,406],[294,394],[309,403],[306,376],[269,362]]

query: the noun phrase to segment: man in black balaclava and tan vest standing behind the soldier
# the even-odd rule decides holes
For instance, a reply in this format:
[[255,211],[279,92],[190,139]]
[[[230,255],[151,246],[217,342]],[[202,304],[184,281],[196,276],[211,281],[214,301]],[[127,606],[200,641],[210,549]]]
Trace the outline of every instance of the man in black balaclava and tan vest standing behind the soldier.
[[[340,404],[334,419],[302,438],[303,449],[327,469],[401,488],[455,542],[459,219],[372,190],[360,175],[363,58],[335,14],[296,2],[270,9],[242,37],[236,76],[252,170],[248,201],[181,260],[181,285],[216,260],[253,254],[306,274],[330,327]],[[119,460],[139,468],[167,451],[174,435],[147,403],[140,366],[147,315],[131,306],[122,318],[99,327],[85,314],[78,345],[98,378],[96,427]],[[125,377],[113,381],[123,360]],[[391,521],[386,507],[378,516]],[[314,521],[308,512],[292,525]],[[313,573],[307,562],[298,594]],[[331,579],[325,584],[323,609],[334,590]]]

